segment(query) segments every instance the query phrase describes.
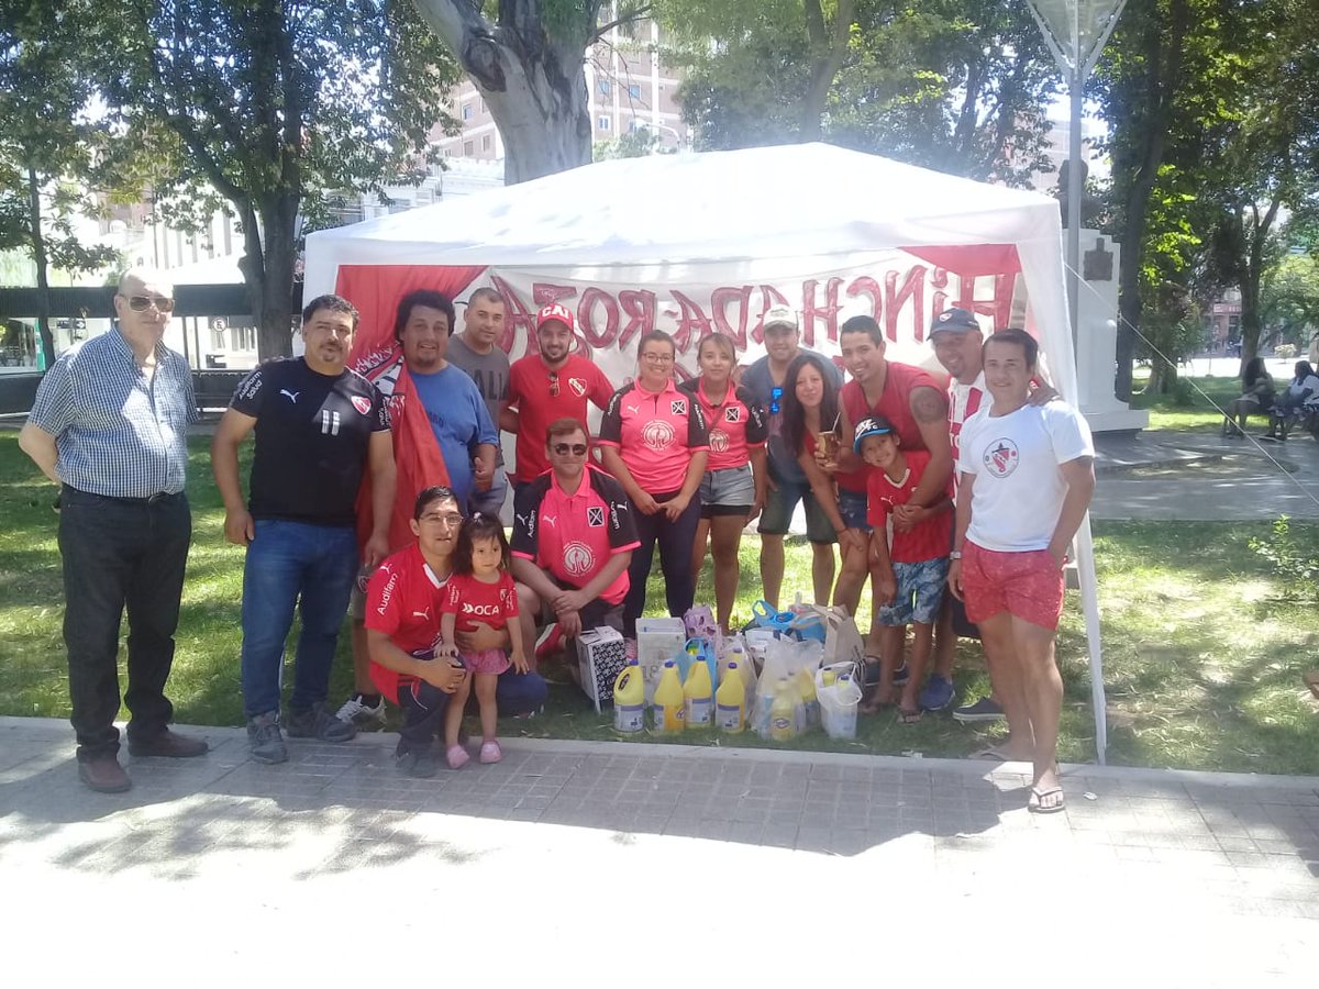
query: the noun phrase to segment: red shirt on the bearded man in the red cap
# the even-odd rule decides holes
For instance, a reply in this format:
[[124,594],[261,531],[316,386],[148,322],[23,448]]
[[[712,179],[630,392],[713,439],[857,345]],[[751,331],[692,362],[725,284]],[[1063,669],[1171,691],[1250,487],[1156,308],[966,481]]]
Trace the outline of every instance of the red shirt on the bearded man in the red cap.
[[579,353],[570,353],[562,367],[553,369],[539,353],[514,361],[508,372],[508,404],[517,407],[518,421],[514,480],[530,481],[550,469],[545,430],[551,422],[574,418],[584,423],[587,401],[604,409],[611,394],[609,378]]

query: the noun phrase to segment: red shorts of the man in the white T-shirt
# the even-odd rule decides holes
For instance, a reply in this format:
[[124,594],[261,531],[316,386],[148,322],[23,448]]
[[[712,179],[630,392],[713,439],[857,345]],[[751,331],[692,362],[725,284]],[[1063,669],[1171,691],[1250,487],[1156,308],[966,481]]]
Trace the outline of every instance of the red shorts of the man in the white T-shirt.
[[962,593],[967,617],[976,624],[1008,612],[1057,632],[1063,613],[1063,571],[1049,550],[997,553],[968,542],[962,558]]

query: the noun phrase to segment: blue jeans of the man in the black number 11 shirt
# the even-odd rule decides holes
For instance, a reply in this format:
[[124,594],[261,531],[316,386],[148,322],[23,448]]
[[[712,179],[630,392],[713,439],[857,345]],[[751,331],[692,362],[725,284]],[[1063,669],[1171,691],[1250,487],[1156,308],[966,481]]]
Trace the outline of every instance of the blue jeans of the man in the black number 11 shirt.
[[243,568],[243,712],[248,717],[280,709],[284,642],[294,605],[302,630],[289,709],[309,711],[326,699],[356,576],[352,527],[256,521]]

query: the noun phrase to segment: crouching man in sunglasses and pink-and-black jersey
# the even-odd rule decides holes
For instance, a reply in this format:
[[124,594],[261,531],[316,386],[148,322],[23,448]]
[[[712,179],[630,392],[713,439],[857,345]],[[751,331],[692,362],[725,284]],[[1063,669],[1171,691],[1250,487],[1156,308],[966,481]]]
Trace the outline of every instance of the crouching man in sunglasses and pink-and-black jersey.
[[536,621],[558,621],[574,637],[583,629],[623,630],[628,564],[637,541],[623,485],[587,463],[586,425],[558,419],[546,427],[550,469],[513,500],[513,576],[520,582],[522,641],[536,641]]

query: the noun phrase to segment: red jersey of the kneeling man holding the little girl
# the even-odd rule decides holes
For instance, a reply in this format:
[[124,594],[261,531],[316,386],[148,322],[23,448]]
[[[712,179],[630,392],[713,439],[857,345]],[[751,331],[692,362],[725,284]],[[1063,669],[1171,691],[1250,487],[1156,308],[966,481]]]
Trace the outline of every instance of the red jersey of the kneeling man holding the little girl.
[[[367,583],[367,628],[383,632],[405,653],[430,649],[439,634],[445,582],[435,576],[415,542],[389,556]],[[371,661],[371,682],[396,704],[398,684],[412,682]]]

